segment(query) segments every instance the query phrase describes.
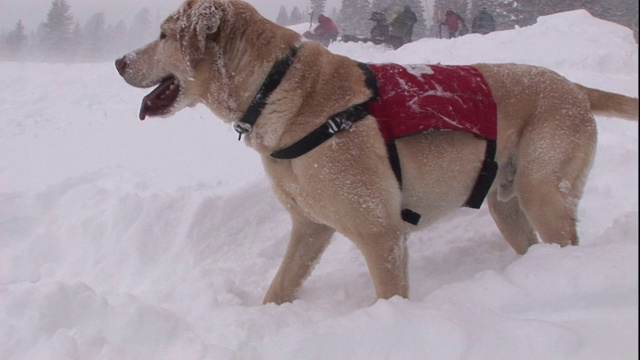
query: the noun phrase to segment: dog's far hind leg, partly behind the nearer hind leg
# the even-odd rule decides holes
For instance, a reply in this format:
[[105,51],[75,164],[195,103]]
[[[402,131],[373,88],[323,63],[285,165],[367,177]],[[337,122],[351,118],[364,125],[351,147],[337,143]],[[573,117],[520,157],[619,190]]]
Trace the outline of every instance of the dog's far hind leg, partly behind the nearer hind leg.
[[517,197],[512,196],[506,201],[499,200],[498,191],[494,189],[489,193],[487,200],[489,211],[500,233],[517,254],[524,254],[531,245],[538,243],[535,230],[520,208]]

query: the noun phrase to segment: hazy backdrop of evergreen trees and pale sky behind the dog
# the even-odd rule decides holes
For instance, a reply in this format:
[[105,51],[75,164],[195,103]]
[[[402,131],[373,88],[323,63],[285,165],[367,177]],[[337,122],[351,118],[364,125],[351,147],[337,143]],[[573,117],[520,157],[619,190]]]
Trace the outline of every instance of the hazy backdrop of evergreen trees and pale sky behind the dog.
[[[481,6],[491,9],[496,30],[527,27],[539,16],[585,9],[594,17],[631,28],[636,41],[638,34],[638,0],[372,0],[371,7],[368,1],[358,0],[326,0],[316,6],[311,0],[248,1],[280,25],[306,24],[307,29],[312,26],[309,10],[321,6],[343,35],[361,37],[369,36],[372,9],[398,4],[410,4],[416,11],[413,40],[443,37],[442,26],[438,26],[443,9],[453,7],[471,25]],[[183,0],[65,2],[68,9],[52,11],[52,0],[0,0],[0,61],[112,60],[157,37],[159,24]],[[50,12],[64,15],[47,19]]]

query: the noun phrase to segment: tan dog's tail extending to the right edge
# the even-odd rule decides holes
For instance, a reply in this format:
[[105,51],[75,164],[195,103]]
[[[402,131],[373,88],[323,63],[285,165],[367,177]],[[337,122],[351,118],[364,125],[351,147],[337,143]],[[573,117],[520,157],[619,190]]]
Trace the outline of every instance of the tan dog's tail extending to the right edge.
[[589,98],[591,112],[595,115],[614,116],[638,120],[638,99],[576,84]]

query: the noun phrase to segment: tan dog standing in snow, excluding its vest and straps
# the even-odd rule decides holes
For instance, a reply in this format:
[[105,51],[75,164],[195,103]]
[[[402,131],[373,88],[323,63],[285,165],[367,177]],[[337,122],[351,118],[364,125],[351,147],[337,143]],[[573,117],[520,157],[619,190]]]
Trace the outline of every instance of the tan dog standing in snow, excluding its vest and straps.
[[[143,100],[141,119],[203,103],[225,122],[237,122],[275,64],[297,49],[245,135],[292,220],[287,252],[264,302],[294,300],[335,231],[363,253],[379,298],[408,296],[408,234],[461,207],[486,142],[457,131],[398,140],[402,189],[370,115],[302,156],[273,158],[372,96],[357,62],[302,42],[239,0],[188,0],[161,30],[157,40],[116,61],[127,83],[159,84]],[[576,208],[596,150],[592,114],[634,120],[638,100],[574,84],[544,68],[474,67],[497,105],[499,170],[488,205],[502,235],[518,254],[538,236],[578,244]],[[422,215],[419,226],[403,221],[403,208]]]

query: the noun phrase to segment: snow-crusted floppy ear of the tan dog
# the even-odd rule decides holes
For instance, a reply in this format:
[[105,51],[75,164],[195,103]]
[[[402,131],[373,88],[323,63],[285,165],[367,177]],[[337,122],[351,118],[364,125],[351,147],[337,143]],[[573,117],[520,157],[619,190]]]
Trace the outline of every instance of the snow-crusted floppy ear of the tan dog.
[[194,66],[204,56],[207,37],[218,31],[222,13],[210,1],[192,1],[184,5],[180,15],[180,50],[187,62]]

